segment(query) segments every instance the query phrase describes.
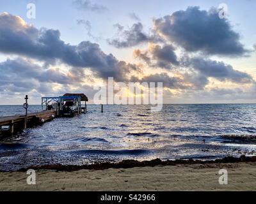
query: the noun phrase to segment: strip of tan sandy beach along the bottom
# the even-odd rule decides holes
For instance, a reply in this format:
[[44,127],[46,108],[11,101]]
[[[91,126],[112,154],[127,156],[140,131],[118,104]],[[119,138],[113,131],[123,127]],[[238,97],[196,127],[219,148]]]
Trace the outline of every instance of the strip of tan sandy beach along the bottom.
[[[220,169],[228,184],[220,185]],[[105,170],[36,170],[36,185],[26,171],[0,172],[0,191],[255,191],[256,163],[177,164]]]

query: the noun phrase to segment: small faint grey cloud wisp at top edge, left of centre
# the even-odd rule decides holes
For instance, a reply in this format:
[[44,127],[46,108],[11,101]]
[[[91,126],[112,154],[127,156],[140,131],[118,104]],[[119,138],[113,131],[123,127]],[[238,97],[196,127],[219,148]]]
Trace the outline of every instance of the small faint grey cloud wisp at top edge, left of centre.
[[84,10],[84,11],[105,11],[108,10],[106,6],[102,6],[100,4],[93,4],[89,0],[75,0],[72,2],[72,4],[77,8],[78,10]]

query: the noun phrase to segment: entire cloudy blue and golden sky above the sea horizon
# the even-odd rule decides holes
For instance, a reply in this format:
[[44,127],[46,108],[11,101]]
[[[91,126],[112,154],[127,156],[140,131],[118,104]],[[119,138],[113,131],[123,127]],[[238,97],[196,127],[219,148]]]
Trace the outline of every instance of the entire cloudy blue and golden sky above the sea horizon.
[[253,0],[0,0],[0,105],[66,92],[93,103],[93,86],[108,77],[163,82],[164,103],[255,103],[255,8]]

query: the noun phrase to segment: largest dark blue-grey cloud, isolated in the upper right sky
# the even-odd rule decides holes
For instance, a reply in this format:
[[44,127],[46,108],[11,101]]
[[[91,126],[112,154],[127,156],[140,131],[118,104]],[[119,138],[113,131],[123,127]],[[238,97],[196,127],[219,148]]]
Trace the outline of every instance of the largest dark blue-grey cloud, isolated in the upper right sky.
[[214,8],[205,11],[188,7],[186,11],[176,11],[155,19],[154,30],[189,52],[231,56],[248,52],[239,41],[239,33],[232,30],[227,19],[219,18]]

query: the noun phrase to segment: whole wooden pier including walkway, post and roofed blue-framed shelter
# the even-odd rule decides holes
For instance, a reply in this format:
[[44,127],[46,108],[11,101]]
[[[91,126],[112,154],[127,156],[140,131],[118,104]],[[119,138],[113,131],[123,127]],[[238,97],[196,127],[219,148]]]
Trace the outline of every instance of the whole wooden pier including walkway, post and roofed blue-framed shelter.
[[[88,98],[84,94],[65,94],[59,97],[43,97],[41,104],[42,111],[35,113],[28,113],[28,95],[26,95],[24,99],[26,103],[23,104],[23,107],[26,110],[26,114],[0,117],[0,131],[3,129],[3,126],[8,126],[10,127],[9,132],[13,134],[22,129],[43,124],[47,120],[52,120],[55,117],[65,117],[65,115],[74,116],[87,112],[86,101],[88,101]],[[81,101],[84,101],[84,107],[81,106]],[[72,106],[75,106],[75,108],[72,109]]]

